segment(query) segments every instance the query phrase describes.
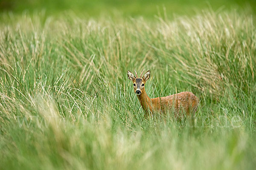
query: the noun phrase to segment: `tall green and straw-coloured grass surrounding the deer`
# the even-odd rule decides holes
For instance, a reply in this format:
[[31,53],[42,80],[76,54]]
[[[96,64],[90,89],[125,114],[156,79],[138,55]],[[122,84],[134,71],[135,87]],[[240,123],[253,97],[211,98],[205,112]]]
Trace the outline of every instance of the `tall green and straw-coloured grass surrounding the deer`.
[[[255,169],[253,9],[162,12],[1,13],[0,169]],[[198,96],[194,119],[145,118],[134,69]]]

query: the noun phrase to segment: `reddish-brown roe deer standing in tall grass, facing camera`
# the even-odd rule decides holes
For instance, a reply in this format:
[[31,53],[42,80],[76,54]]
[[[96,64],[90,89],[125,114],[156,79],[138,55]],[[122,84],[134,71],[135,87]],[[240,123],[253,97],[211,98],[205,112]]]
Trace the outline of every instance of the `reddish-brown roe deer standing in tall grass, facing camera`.
[[136,77],[134,77],[134,74],[132,74],[129,70],[127,71],[127,75],[128,78],[133,82],[134,92],[137,94],[140,105],[146,113],[148,113],[148,110],[153,113],[153,111],[164,112],[166,109],[174,109],[175,114],[178,114],[180,111],[185,111],[186,114],[189,114],[189,112],[195,113],[198,107],[198,98],[195,96],[195,94],[188,91],[150,99],[144,88],[145,82],[150,77],[150,70],[148,70],[142,77],[143,71],[140,77],[137,76],[136,71]]

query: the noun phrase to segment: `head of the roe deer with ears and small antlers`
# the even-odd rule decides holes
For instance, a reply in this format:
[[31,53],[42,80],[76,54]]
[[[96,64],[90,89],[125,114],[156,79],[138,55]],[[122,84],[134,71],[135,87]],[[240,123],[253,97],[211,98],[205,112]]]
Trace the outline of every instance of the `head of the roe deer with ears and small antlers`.
[[[143,70],[144,71],[144,70]],[[143,91],[145,91],[145,83],[146,81],[149,79],[150,77],[150,70],[148,70],[144,76],[143,75],[143,71],[140,74],[140,77],[138,77],[137,72],[135,71],[136,77],[134,76],[134,74],[132,74],[131,71],[127,71],[127,75],[128,75],[128,79],[130,79],[133,82],[134,85],[134,92],[137,95],[142,94]]]

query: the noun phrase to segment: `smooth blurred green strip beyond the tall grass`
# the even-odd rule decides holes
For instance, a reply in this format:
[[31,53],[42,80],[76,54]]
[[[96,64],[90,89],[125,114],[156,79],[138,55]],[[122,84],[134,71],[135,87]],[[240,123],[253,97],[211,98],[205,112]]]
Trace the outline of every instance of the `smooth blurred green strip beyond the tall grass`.
[[162,14],[193,15],[204,9],[248,10],[256,13],[256,0],[0,0],[0,11],[20,14],[44,10],[46,15],[73,11],[85,17],[121,15],[152,18]]

